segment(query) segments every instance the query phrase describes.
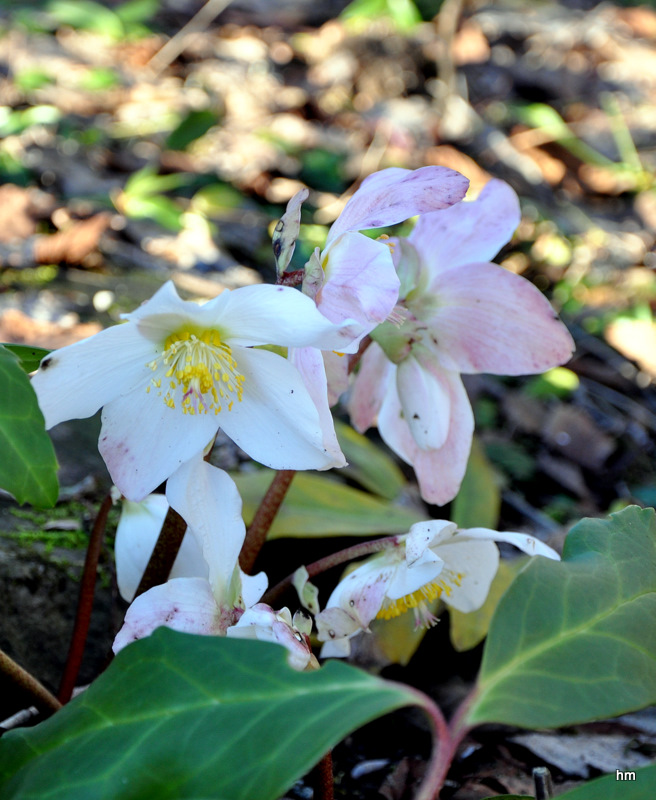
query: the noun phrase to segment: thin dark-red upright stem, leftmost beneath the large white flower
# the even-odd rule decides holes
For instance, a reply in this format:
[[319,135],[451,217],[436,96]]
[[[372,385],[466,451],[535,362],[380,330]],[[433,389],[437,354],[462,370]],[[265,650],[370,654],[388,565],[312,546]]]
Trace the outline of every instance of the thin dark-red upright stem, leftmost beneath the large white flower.
[[84,559],[84,569],[82,571],[82,580],[80,581],[80,594],[77,603],[73,635],[68,649],[68,658],[66,659],[64,674],[62,675],[61,684],[59,686],[59,700],[62,703],[68,703],[71,699],[73,689],[75,688],[75,682],[80,672],[84,647],[91,623],[91,611],[93,608],[96,578],[98,575],[98,560],[100,559],[103,537],[105,536],[105,528],[107,527],[107,517],[111,507],[112,498],[111,495],[107,495],[98,509],[96,521],[93,523],[93,529],[89,537],[87,554]]

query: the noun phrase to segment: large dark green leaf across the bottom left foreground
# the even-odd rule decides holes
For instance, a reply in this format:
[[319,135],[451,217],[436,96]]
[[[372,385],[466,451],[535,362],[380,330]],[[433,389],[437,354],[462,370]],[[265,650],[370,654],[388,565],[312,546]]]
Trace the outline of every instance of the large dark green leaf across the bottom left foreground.
[[417,703],[284,648],[159,628],[36,728],[0,740],[3,800],[276,800],[350,731]]

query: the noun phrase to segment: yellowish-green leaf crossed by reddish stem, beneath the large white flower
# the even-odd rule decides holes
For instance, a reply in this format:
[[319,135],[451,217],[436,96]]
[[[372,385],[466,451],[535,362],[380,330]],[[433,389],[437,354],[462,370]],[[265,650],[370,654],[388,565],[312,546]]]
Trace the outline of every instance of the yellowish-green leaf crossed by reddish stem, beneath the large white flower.
[[[274,475],[270,469],[232,475],[244,502],[246,524],[253,519]],[[333,478],[299,472],[271,526],[269,539],[407,533],[421,519],[418,511],[392,505]]]

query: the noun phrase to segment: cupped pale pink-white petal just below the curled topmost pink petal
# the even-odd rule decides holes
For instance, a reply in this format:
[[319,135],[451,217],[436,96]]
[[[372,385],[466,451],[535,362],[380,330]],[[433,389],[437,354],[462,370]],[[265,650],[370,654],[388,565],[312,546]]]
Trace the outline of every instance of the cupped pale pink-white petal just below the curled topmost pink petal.
[[389,247],[361,233],[345,233],[323,253],[326,280],[316,296],[332,322],[356,319],[361,335],[383,322],[399,297],[399,279]]

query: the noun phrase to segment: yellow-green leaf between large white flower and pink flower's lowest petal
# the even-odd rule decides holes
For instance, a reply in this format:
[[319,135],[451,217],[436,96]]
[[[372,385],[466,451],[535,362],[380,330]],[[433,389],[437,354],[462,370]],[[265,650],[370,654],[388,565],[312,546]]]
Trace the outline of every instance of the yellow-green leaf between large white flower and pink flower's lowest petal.
[[406,485],[403,473],[394,459],[380,447],[339,420],[335,420],[337,441],[342,448],[348,467],[341,470],[369,489],[370,492],[393,500]]

